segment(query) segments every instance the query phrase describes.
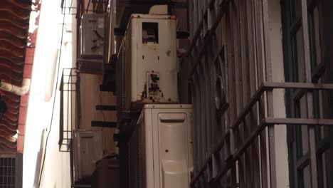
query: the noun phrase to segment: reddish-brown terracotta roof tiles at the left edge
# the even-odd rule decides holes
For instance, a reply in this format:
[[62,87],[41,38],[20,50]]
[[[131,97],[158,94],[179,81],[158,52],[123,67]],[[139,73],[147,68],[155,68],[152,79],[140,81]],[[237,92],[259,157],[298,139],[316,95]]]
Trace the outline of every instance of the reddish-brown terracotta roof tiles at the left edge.
[[[23,73],[25,78],[31,78],[32,66],[26,67],[25,70],[30,13],[31,1],[0,1],[0,80],[14,85],[21,85]],[[33,58],[30,61],[33,61]],[[16,152],[18,148],[14,135],[20,123],[19,145],[23,145],[28,95],[23,97],[22,106],[20,96],[3,90],[0,90],[0,93],[8,108],[0,120],[0,152]],[[20,150],[23,152],[23,148]]]

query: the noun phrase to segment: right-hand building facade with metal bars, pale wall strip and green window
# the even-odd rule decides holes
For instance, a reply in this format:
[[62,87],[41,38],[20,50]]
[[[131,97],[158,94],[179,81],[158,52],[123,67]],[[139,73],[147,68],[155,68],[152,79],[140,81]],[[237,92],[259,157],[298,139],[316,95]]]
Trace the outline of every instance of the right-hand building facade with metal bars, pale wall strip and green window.
[[189,1],[192,187],[332,186],[331,1]]

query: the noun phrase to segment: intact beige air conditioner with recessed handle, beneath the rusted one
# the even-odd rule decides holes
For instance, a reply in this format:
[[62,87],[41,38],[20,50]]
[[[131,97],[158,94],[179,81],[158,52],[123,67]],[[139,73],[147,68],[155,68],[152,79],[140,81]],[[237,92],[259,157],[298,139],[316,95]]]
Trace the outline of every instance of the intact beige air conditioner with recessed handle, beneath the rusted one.
[[129,187],[189,187],[191,129],[191,105],[144,105],[129,140]]

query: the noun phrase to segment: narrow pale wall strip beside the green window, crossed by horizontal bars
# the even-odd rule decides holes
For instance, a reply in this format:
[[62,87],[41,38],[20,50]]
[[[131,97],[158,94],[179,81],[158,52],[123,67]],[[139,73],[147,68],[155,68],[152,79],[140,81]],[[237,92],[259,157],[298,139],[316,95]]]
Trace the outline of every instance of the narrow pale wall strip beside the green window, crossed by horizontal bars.
[[[272,61],[273,81],[284,82],[285,74],[283,68],[280,0],[268,1],[268,12],[270,19],[270,54]],[[274,90],[273,98],[274,116],[286,117],[285,91]],[[287,127],[285,125],[275,126],[275,159],[277,174],[276,187],[289,187]]]

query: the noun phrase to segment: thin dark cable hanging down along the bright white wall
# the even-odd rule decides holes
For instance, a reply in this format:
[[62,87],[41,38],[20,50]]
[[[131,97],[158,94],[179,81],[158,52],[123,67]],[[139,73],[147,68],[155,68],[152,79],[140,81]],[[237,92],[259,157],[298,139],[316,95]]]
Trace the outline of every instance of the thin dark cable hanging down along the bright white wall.
[[58,58],[58,70],[57,70],[57,79],[56,79],[56,88],[54,90],[54,97],[53,97],[53,107],[52,107],[52,115],[51,115],[51,123],[50,123],[50,129],[48,130],[48,136],[46,137],[46,143],[45,143],[45,150],[43,153],[43,162],[41,165],[41,174],[38,179],[38,188],[41,187],[41,179],[43,177],[43,169],[44,169],[44,164],[45,164],[45,159],[46,159],[46,150],[48,149],[48,137],[50,136],[51,130],[52,130],[52,122],[53,122],[53,115],[54,115],[54,108],[56,105],[56,93],[58,89],[58,80],[59,80],[59,73],[60,73],[60,61],[61,61],[61,50],[63,48],[63,31],[64,31],[64,26],[65,26],[65,14],[63,14],[63,28],[61,30],[61,39],[60,39],[60,50],[59,50],[59,58]]

